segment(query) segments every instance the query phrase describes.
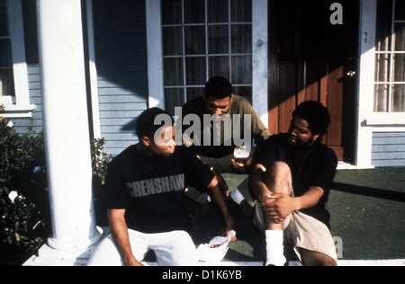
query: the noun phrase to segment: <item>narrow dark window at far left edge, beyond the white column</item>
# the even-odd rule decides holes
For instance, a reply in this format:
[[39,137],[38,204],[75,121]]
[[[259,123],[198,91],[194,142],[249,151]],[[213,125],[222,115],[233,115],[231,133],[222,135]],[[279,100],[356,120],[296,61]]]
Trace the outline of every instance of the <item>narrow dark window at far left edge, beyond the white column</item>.
[[3,99],[14,96],[13,59],[5,0],[0,0],[0,96]]

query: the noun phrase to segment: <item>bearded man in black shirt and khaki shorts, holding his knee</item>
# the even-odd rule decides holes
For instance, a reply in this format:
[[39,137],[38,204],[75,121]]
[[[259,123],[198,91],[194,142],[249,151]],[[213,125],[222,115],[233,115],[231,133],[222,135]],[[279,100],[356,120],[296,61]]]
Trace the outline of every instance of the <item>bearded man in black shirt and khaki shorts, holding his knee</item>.
[[249,185],[257,197],[255,222],[266,232],[266,265],[284,265],[284,240],[304,265],[337,265],[325,203],[338,158],[321,143],[329,123],[320,102],[303,102],[289,132],[269,138],[257,155]]

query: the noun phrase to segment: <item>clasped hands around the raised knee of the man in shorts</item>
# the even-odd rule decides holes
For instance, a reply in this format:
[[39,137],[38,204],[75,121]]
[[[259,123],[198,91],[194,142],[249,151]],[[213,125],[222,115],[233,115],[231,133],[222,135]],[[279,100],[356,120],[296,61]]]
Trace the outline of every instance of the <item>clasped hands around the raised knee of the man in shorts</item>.
[[275,223],[284,223],[285,218],[297,210],[296,200],[288,194],[275,193],[262,200],[266,217]]

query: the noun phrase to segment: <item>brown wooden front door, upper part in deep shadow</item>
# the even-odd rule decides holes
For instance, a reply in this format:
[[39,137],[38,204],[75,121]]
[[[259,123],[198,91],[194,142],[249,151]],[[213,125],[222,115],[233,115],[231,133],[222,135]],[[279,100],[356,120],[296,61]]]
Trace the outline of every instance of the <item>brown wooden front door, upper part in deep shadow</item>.
[[356,73],[352,71],[356,72],[359,3],[338,1],[343,7],[343,24],[334,25],[330,17],[335,10],[330,7],[335,2],[270,1],[269,129],[272,133],[287,131],[298,104],[322,102],[332,119],[323,142],[343,160],[344,114],[350,115],[345,101],[352,105],[356,96]]

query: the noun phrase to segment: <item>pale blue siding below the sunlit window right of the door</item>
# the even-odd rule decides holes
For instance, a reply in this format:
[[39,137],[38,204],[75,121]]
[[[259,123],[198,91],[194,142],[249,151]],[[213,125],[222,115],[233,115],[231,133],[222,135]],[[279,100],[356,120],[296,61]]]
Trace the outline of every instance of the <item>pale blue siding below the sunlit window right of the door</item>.
[[405,166],[405,132],[374,132],[372,164]]

